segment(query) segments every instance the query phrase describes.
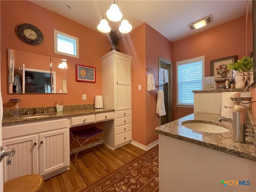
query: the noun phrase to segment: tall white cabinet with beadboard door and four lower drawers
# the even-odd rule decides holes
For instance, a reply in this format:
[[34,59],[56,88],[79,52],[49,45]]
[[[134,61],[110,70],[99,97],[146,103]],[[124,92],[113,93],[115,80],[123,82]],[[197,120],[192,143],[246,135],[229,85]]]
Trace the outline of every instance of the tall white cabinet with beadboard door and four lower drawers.
[[132,140],[132,57],[112,50],[100,59],[103,106],[115,109],[115,119],[103,123],[104,141],[116,149]]

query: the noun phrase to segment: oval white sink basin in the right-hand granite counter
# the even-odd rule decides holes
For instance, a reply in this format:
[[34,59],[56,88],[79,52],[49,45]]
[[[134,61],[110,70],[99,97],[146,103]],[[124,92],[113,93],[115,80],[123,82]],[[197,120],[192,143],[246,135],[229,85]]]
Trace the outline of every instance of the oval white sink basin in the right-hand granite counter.
[[208,133],[225,133],[229,130],[213,124],[208,123],[199,123],[199,122],[182,122],[182,126],[195,130],[195,131],[201,131],[201,132],[208,132]]

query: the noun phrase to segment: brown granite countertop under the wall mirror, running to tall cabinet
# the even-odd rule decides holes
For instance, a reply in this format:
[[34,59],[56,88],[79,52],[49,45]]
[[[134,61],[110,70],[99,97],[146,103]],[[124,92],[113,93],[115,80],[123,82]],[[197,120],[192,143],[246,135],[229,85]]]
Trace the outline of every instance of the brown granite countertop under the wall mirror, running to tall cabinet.
[[[23,122],[34,122],[34,121],[40,121],[40,120],[52,120],[57,118],[66,118],[66,117],[98,114],[98,113],[113,112],[113,111],[114,109],[108,109],[108,108],[101,108],[101,109],[85,108],[85,109],[63,110],[63,112],[48,112],[46,114],[43,113],[43,114],[37,114],[37,115],[36,114],[21,115],[19,117],[3,116],[2,125],[4,126],[4,125],[17,124],[17,123],[23,123]],[[44,116],[44,115],[48,115],[48,116]],[[44,116],[44,117],[24,119],[30,116]]]

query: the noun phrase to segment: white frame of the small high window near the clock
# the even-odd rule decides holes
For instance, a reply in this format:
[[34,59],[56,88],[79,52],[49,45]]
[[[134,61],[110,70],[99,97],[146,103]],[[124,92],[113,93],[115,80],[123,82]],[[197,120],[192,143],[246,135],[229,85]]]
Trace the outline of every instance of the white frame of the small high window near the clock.
[[[58,51],[58,34],[75,40],[74,42],[76,47],[76,55]],[[69,56],[69,57],[79,58],[79,38],[54,29],[54,53]]]

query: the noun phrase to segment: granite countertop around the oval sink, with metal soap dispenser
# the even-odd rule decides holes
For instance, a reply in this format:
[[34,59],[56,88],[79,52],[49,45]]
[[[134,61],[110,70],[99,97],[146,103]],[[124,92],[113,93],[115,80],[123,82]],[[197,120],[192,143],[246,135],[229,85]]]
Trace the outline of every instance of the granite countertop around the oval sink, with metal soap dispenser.
[[[232,154],[248,160],[256,161],[255,125],[256,119],[251,112],[246,114],[246,142],[239,143],[232,140],[232,123],[227,121],[219,122],[220,114],[196,112],[178,120],[169,122],[157,127],[158,134],[170,136],[186,142],[198,144],[207,148]],[[216,124],[227,128],[225,133],[207,133],[188,129],[182,126],[183,121],[202,122]]]

